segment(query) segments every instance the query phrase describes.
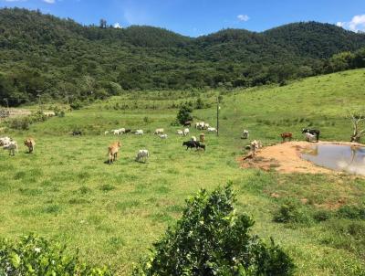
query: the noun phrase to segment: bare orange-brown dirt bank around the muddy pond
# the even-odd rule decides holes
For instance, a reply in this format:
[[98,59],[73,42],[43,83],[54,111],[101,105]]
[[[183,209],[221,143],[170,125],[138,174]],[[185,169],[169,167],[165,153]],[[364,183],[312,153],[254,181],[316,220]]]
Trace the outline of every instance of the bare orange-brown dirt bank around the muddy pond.
[[300,153],[308,149],[312,144],[313,143],[308,143],[304,141],[277,143],[276,145],[267,146],[260,149],[256,154],[255,159],[243,160],[243,157],[241,157],[239,158],[239,162],[242,168],[256,167],[263,170],[275,169],[277,172],[285,174],[338,174],[335,171],[320,167],[318,165],[314,165],[313,163],[300,158]]

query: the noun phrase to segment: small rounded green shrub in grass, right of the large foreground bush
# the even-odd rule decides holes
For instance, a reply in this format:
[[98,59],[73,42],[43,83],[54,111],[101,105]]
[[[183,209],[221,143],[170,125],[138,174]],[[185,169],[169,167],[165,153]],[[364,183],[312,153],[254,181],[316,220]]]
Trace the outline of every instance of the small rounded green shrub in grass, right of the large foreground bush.
[[287,199],[276,211],[274,221],[282,223],[309,223],[308,211],[297,200]]

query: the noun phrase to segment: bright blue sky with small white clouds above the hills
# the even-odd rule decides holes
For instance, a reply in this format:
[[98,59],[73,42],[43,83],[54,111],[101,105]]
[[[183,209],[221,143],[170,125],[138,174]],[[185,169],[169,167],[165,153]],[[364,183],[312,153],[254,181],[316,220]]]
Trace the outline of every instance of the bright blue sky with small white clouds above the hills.
[[262,31],[315,20],[365,31],[365,0],[0,0],[84,25],[150,25],[197,37],[226,27]]

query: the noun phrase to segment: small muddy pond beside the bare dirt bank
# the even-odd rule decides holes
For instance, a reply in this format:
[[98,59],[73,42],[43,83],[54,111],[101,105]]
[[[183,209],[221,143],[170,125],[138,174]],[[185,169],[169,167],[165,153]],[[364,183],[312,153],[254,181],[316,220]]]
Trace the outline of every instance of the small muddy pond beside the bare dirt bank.
[[316,144],[302,153],[301,157],[331,170],[365,175],[365,147]]

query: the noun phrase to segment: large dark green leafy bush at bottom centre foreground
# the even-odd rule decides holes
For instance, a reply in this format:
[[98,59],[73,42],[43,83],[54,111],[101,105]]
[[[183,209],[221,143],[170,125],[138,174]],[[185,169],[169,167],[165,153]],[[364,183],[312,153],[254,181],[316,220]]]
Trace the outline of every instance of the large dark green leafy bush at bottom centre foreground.
[[237,215],[231,186],[187,200],[174,228],[154,244],[134,275],[291,275],[294,264],[271,240],[250,234],[254,221]]

